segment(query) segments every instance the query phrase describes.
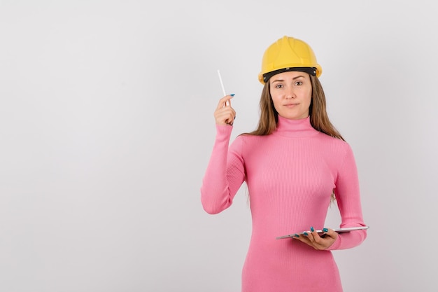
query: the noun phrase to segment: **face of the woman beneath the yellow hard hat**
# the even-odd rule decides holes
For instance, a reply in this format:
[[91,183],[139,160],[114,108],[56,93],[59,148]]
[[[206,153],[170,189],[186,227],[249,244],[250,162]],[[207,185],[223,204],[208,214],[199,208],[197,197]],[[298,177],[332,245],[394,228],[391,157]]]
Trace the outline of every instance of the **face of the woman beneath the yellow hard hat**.
[[312,97],[309,74],[299,71],[276,74],[269,79],[269,88],[279,116],[290,120],[309,116]]

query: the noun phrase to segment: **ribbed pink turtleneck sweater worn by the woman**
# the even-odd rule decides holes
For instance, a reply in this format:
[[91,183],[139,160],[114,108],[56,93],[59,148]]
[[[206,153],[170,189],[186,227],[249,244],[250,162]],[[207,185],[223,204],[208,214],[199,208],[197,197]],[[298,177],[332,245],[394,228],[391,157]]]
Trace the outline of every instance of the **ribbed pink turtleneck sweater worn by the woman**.
[[201,187],[209,214],[227,209],[248,185],[253,230],[242,271],[243,292],[341,292],[332,252],[358,246],[366,230],[342,233],[318,251],[281,235],[325,226],[332,189],[340,227],[365,225],[358,172],[351,147],[313,129],[310,118],[278,117],[274,133],[241,135],[231,145],[232,126],[217,125],[216,141]]

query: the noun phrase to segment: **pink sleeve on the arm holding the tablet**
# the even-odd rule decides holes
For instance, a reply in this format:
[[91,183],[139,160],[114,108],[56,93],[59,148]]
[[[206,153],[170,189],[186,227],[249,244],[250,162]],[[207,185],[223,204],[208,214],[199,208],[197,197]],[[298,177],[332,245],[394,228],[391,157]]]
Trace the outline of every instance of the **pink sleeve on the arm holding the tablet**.
[[[344,162],[339,170],[335,188],[341,228],[365,226],[360,203],[358,170],[350,146],[346,149]],[[361,244],[367,237],[367,230],[358,230],[339,234],[339,237],[328,250],[351,249]]]

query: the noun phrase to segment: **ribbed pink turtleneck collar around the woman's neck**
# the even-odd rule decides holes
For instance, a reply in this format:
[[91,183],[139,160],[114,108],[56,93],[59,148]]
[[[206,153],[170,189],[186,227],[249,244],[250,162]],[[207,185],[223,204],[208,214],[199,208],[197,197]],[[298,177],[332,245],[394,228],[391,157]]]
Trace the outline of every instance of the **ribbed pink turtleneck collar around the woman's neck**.
[[277,128],[273,134],[291,138],[304,138],[318,133],[310,123],[310,116],[299,120],[290,120],[278,116]]

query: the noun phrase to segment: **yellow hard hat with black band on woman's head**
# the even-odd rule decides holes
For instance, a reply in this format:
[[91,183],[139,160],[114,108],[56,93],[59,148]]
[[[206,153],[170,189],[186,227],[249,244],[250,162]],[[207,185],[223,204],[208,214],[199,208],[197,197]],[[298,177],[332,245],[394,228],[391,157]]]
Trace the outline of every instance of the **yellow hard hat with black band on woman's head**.
[[264,51],[259,81],[264,84],[271,76],[284,71],[304,71],[316,77],[323,73],[312,48],[290,36],[283,36]]

